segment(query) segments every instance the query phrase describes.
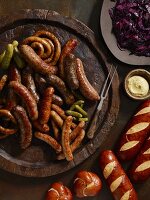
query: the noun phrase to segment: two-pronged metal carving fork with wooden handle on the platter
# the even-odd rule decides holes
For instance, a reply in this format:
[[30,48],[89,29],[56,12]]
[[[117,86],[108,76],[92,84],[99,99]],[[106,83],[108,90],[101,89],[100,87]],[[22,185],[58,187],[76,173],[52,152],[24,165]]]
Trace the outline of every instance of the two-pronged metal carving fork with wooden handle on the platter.
[[[94,118],[92,119],[91,124],[90,124],[90,128],[89,128],[89,130],[87,132],[87,137],[89,139],[92,139],[94,137],[94,134],[95,134],[95,131],[96,131],[96,127],[97,127],[97,123],[98,123],[98,118],[99,118],[99,115],[100,115],[100,110],[102,109],[103,102],[104,102],[104,100],[106,99],[106,97],[108,95],[108,91],[110,89],[110,86],[112,84],[114,75],[116,73],[117,66],[115,67],[115,69],[113,71],[113,74],[111,76],[112,69],[113,69],[113,67],[111,65],[110,71],[108,73],[108,76],[107,76],[107,78],[106,78],[106,80],[104,82],[104,85],[103,85],[103,88],[102,88],[102,91],[101,91],[100,102],[99,102],[99,104],[97,106],[96,112],[94,114]],[[109,82],[109,80],[110,80],[110,82]]]

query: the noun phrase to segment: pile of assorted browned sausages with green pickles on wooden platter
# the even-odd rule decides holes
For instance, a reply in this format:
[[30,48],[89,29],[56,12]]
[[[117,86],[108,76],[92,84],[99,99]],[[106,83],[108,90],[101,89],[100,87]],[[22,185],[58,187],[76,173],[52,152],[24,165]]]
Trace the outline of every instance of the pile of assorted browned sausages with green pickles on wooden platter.
[[0,139],[18,133],[26,149],[35,137],[55,150],[57,160],[73,160],[88,121],[76,94],[99,100],[82,61],[72,54],[77,45],[69,39],[62,48],[46,30],[7,45],[0,55]]

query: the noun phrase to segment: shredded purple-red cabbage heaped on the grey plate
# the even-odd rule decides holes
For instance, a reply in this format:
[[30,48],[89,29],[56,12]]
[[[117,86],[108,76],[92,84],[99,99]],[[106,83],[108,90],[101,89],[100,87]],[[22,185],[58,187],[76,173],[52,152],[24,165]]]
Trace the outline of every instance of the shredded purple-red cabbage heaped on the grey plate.
[[109,14],[120,49],[150,56],[150,0],[117,0]]

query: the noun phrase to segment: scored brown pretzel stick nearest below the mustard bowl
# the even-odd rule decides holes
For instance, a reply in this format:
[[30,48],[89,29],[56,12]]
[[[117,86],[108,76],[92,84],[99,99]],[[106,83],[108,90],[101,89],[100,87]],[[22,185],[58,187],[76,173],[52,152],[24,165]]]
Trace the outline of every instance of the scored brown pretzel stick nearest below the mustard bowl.
[[140,151],[150,132],[150,100],[139,107],[131,118],[119,141],[117,155],[121,160],[130,160]]

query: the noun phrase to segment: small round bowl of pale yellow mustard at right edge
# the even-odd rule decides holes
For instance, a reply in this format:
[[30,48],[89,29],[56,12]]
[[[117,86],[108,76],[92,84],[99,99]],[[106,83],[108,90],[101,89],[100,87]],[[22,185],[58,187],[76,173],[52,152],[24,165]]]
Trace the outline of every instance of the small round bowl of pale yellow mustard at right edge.
[[135,100],[150,98],[150,72],[144,69],[130,71],[124,82],[127,95]]

